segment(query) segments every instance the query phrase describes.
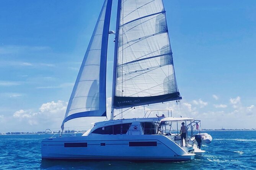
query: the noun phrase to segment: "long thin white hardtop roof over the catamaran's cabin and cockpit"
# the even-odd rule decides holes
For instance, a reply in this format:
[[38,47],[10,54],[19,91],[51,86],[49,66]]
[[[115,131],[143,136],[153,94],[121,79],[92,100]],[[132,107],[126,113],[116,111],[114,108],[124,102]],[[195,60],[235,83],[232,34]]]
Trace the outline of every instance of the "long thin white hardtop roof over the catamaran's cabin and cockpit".
[[95,122],[93,125],[114,125],[120,123],[132,123],[132,122],[182,122],[182,121],[194,121],[196,119],[189,117],[149,117],[149,118],[132,118],[132,119],[117,119],[108,120],[103,122]]

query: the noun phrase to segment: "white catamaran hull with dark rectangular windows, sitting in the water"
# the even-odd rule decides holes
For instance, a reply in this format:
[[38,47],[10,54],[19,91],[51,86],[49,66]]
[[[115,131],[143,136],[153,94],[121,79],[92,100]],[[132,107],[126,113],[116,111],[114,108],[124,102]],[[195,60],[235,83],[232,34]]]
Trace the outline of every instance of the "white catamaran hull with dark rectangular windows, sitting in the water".
[[42,159],[186,161],[194,156],[164,135],[72,136],[42,141]]

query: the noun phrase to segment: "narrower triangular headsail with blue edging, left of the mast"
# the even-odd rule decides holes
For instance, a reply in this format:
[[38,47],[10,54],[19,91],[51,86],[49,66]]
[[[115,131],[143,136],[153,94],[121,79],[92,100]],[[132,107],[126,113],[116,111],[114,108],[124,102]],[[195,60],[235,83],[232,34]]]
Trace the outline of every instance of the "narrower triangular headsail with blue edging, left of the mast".
[[112,0],[105,0],[77,76],[62,122],[106,116],[106,59]]

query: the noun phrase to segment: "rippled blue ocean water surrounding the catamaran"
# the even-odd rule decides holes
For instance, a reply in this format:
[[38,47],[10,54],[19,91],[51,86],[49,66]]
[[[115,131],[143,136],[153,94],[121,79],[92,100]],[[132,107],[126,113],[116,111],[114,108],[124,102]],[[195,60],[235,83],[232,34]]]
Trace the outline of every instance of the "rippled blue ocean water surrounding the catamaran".
[[[256,169],[256,131],[211,131],[213,140],[203,145],[205,156],[188,162],[41,160],[41,140],[51,135],[0,135],[0,170],[168,170]],[[159,151],[161,152],[161,151]]]

